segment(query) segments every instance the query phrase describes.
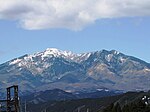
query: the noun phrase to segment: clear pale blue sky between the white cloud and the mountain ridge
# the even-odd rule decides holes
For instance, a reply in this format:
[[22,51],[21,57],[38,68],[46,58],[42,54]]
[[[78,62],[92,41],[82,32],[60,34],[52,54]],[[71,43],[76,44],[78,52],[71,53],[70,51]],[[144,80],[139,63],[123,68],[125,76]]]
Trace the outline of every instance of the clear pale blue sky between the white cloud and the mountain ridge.
[[24,30],[13,21],[0,21],[0,63],[48,47],[75,53],[118,50],[150,62],[150,18],[99,20],[81,31]]

